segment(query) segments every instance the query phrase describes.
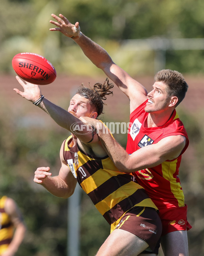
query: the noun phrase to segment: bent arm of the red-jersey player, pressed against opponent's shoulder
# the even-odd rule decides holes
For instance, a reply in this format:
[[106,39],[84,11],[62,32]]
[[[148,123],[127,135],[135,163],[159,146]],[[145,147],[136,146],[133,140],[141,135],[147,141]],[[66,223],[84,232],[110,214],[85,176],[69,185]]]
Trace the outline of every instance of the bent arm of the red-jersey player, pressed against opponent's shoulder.
[[[84,117],[83,120],[90,120]],[[184,136],[169,136],[159,142],[140,148],[129,155],[125,149],[113,138],[107,127],[98,120],[90,120],[97,128],[99,139],[115,166],[121,172],[134,172],[159,165],[166,160],[178,157],[186,143]],[[97,124],[100,125],[97,125]]]

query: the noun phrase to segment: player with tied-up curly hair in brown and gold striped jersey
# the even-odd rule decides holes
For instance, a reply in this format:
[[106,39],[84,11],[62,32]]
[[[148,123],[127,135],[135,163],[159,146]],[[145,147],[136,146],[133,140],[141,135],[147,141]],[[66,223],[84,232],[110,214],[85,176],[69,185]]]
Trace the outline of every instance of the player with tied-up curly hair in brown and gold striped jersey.
[[72,133],[61,146],[62,166],[58,176],[51,177],[49,167],[39,167],[34,182],[62,198],[70,197],[77,182],[80,184],[111,225],[111,234],[97,256],[157,255],[162,224],[155,204],[133,175],[114,166],[95,130],[79,119],[81,116],[95,119],[103,112],[103,100],[112,94],[113,84],[106,80],[93,88],[79,87],[66,111],[44,98],[38,85],[16,78],[24,89],[22,92],[15,88],[17,94],[39,106]]

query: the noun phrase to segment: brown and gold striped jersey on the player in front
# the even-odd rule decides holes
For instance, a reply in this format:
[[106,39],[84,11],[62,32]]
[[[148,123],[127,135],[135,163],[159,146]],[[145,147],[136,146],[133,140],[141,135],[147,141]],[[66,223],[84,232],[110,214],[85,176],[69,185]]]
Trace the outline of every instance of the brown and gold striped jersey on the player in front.
[[119,172],[108,156],[88,155],[77,143],[70,147],[71,142],[72,136],[64,141],[64,159],[80,186],[111,225],[111,232],[134,206],[157,209],[133,175]]

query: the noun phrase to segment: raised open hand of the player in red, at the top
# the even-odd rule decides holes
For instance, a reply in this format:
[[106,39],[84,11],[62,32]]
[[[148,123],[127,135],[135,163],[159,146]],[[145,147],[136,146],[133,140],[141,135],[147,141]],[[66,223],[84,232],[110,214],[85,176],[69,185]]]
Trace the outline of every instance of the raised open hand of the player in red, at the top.
[[51,14],[51,16],[57,21],[50,20],[50,23],[57,26],[58,28],[50,28],[50,31],[60,31],[64,35],[66,35],[66,37],[75,37],[79,35],[80,33],[79,22],[76,22],[75,25],[73,25],[62,14],[59,15],[60,17],[56,16],[55,14]]

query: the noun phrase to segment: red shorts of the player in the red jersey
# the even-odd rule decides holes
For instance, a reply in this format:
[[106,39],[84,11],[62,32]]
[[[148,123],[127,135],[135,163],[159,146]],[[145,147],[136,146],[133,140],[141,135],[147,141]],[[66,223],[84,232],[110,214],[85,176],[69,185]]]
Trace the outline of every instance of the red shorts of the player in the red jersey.
[[189,230],[192,226],[187,221],[187,205],[184,207],[159,209],[162,221],[162,236],[177,230]]

